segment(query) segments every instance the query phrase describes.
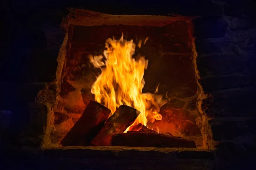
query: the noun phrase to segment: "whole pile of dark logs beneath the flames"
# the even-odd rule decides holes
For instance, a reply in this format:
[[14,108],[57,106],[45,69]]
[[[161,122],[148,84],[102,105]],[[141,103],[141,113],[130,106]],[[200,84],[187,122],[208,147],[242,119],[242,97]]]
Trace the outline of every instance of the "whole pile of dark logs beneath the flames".
[[82,116],[61,141],[63,146],[128,146],[128,147],[195,147],[195,142],[171,135],[158,134],[142,124],[131,126],[140,114],[121,105],[111,111],[90,101]]

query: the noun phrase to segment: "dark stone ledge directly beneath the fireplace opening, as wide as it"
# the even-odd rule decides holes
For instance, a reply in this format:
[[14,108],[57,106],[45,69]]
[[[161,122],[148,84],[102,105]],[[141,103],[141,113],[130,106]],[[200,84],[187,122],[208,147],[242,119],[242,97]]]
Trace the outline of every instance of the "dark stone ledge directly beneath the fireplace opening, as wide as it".
[[[57,167],[72,167],[73,169],[93,167],[98,169],[212,170],[212,159],[214,159],[213,153],[197,149],[163,148],[163,150],[156,150],[150,147],[145,150],[145,147],[96,147],[95,149],[87,147],[45,150],[42,162],[44,167],[48,167],[50,162],[54,161]],[[73,163],[70,164],[71,162]]]

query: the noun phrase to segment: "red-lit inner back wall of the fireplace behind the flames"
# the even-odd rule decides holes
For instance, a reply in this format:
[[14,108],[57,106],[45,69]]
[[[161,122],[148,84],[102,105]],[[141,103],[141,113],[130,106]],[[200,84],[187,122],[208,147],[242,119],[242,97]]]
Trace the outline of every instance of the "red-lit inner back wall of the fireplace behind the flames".
[[[119,39],[122,32],[125,39],[132,39],[136,44],[149,37],[145,45],[137,48],[135,53],[144,55],[149,60],[143,92],[154,93],[160,83],[159,94],[168,92],[170,98],[160,111],[166,122],[166,127],[160,128],[160,133],[169,131],[180,136],[181,131],[184,135],[200,136],[200,129],[196,125],[196,118],[201,115],[196,103],[198,85],[192,56],[191,30],[191,25],[185,21],[175,21],[162,27],[73,26],[73,34],[70,35],[71,50],[62,74],[58,107],[54,111],[54,126],[57,130],[52,134],[54,142],[61,140],[79,119],[90,99],[93,99],[90,88],[100,70],[89,64],[88,54],[103,54],[105,40],[112,36]],[[192,125],[185,127],[188,121]],[[168,124],[172,126],[168,127]],[[177,130],[180,125],[185,128]],[[56,139],[56,133],[62,134],[62,137]]]

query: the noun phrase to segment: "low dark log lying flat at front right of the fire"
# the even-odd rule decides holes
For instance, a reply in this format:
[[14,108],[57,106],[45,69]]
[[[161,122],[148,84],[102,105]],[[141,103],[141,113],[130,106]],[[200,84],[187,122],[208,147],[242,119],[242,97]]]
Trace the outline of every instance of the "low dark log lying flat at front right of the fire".
[[157,133],[127,132],[112,137],[111,146],[196,147],[195,141]]

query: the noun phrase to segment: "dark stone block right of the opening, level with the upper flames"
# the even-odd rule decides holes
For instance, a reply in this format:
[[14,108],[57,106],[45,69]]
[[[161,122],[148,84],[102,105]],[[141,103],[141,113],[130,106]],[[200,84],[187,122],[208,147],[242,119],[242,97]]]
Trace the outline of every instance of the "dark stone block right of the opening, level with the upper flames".
[[245,69],[243,57],[237,55],[213,54],[198,57],[197,65],[201,77],[228,75],[243,72]]

